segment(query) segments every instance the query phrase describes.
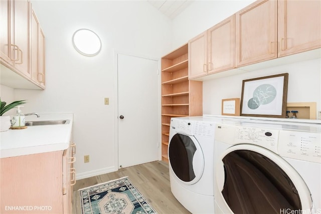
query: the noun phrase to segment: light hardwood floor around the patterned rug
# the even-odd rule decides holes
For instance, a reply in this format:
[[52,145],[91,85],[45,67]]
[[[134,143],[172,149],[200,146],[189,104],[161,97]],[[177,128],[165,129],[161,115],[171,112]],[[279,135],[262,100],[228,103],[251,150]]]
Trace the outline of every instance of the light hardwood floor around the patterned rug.
[[81,213],[78,189],[128,176],[132,184],[158,213],[191,213],[172,194],[169,165],[154,161],[118,171],[77,180],[73,191],[73,213]]

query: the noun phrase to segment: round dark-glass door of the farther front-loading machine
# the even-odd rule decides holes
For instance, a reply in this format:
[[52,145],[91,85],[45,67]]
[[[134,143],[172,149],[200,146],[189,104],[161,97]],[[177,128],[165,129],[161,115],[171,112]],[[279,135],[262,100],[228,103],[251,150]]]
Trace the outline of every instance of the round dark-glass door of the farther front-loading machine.
[[175,134],[169,144],[169,160],[176,176],[186,184],[194,184],[204,171],[204,156],[193,136]]

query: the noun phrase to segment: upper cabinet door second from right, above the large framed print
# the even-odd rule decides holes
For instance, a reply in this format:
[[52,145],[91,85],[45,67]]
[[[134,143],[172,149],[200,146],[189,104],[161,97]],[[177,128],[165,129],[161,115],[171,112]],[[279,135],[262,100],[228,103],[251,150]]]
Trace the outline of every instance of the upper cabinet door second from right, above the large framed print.
[[236,67],[277,57],[277,1],[256,1],[236,13]]

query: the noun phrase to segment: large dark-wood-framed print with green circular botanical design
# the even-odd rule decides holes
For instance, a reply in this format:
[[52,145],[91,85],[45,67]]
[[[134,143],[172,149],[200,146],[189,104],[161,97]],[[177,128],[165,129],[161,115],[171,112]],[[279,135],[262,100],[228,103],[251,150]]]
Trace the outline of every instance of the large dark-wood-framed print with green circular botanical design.
[[286,116],[288,73],[243,80],[241,116]]

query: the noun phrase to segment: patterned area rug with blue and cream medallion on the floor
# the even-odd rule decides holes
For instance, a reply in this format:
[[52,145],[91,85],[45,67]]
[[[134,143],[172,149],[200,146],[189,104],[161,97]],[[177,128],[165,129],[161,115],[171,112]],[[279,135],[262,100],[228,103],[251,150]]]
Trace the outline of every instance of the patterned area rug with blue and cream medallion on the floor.
[[128,177],[79,189],[83,214],[156,214]]

